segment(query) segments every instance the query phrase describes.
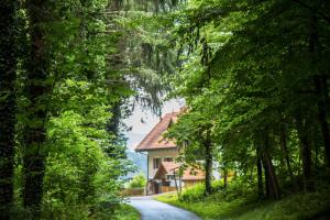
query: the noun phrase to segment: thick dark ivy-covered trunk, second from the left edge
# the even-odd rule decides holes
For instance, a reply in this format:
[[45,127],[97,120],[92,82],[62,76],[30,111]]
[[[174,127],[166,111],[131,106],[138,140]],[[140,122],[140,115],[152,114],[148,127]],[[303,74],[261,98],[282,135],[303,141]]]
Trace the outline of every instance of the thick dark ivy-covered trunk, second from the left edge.
[[51,11],[47,9],[47,1],[43,0],[30,0],[26,6],[30,20],[31,54],[26,64],[28,82],[25,94],[30,100],[30,106],[26,108],[30,121],[24,130],[23,202],[25,208],[31,209],[34,219],[38,219],[45,173],[45,155],[41,150],[46,139],[44,127],[47,116],[46,97],[51,90],[51,86],[45,82],[50,64],[44,42],[44,31],[41,24],[47,21]]

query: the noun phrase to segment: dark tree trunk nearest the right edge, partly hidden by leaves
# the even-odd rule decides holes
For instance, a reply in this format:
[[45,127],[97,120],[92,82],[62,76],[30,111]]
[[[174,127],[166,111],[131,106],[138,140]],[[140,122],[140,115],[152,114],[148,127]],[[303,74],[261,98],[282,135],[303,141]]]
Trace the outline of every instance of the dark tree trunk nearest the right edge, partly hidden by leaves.
[[[317,16],[312,13],[310,19],[310,36],[309,36],[309,53],[312,57],[311,66],[317,66],[317,61],[319,57],[319,36],[318,36],[318,28],[317,28]],[[316,68],[317,69],[317,68]],[[318,69],[317,69],[318,70]],[[330,167],[330,132],[329,124],[327,121],[327,109],[329,102],[329,94],[328,94],[328,78],[322,73],[316,73],[314,76],[314,85],[317,97],[317,106],[318,106],[318,114],[320,127],[322,131],[323,144],[326,148],[326,158],[328,162],[328,166]]]

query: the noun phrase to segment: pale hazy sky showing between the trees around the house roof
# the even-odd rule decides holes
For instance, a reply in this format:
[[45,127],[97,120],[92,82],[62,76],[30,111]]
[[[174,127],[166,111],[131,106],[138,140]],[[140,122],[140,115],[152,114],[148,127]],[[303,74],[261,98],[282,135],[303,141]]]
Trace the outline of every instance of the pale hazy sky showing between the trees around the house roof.
[[[178,111],[184,106],[183,100],[172,99],[166,101],[162,108],[163,116],[165,113]],[[143,121],[143,122],[142,122]],[[132,127],[132,130],[127,133],[128,148],[133,151],[134,147],[144,139],[144,136],[156,125],[160,118],[150,111],[142,111],[141,108],[135,108],[132,116],[124,120],[128,127]]]

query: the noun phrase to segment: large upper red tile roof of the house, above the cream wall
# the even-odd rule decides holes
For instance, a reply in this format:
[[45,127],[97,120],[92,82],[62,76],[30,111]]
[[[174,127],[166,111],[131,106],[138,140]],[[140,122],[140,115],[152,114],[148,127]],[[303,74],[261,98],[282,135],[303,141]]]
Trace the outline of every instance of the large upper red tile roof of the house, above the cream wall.
[[161,148],[176,148],[176,144],[163,134],[169,128],[170,123],[175,123],[179,112],[166,113],[163,119],[153,128],[153,130],[142,140],[135,147],[136,152],[152,151]]

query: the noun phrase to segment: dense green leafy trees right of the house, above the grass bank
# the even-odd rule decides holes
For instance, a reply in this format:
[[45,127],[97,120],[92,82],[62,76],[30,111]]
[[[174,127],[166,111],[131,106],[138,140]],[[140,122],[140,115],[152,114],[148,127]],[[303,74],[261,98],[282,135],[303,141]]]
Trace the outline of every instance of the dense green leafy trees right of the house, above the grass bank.
[[[329,183],[329,10],[324,1],[188,1],[172,13],[187,110],[167,133],[261,198]],[[216,163],[213,163],[216,162]],[[213,164],[213,165],[212,165]],[[326,183],[320,183],[326,182]]]

